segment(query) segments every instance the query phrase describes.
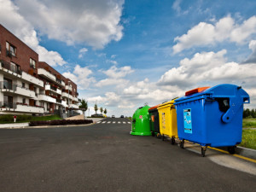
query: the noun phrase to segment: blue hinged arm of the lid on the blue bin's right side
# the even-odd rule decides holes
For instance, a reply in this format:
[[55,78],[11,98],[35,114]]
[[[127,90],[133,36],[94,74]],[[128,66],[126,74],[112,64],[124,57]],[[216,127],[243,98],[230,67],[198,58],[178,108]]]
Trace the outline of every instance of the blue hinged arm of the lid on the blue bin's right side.
[[248,100],[248,96],[230,97],[230,108],[222,115],[222,121],[224,123],[230,123],[235,117],[238,109],[241,108],[241,105],[243,105],[243,103],[247,103],[246,101]]

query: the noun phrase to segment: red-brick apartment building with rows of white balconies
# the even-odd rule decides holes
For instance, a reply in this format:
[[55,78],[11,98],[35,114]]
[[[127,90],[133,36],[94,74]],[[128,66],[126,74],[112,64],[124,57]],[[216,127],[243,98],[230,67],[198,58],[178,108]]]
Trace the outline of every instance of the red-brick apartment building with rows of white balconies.
[[0,114],[79,108],[77,84],[38,61],[38,53],[0,25]]

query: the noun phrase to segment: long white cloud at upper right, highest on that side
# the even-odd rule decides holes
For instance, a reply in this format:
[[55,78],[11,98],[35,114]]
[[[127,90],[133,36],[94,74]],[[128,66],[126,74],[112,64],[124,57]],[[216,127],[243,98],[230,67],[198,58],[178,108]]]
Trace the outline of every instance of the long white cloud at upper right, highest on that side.
[[224,40],[235,42],[236,44],[247,43],[248,38],[256,33],[256,16],[239,25],[230,16],[226,16],[214,24],[200,22],[198,25],[189,29],[186,34],[174,38],[177,42],[172,49],[177,54],[183,49],[189,49],[195,46],[204,46],[216,44]]

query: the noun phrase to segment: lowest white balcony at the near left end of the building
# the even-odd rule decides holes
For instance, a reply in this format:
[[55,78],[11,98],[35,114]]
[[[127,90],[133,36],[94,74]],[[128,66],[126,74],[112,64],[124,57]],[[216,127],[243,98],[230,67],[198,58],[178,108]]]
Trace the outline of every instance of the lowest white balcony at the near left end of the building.
[[1,111],[16,111],[23,113],[44,113],[44,108],[39,106],[27,106],[20,102],[0,102]]

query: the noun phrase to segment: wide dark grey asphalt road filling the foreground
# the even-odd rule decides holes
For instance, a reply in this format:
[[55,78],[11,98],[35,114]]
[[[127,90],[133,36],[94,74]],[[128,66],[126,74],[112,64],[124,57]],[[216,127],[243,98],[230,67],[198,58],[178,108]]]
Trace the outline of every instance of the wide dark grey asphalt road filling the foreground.
[[0,130],[0,191],[255,191],[255,175],[210,159],[227,154],[131,136],[128,122]]

